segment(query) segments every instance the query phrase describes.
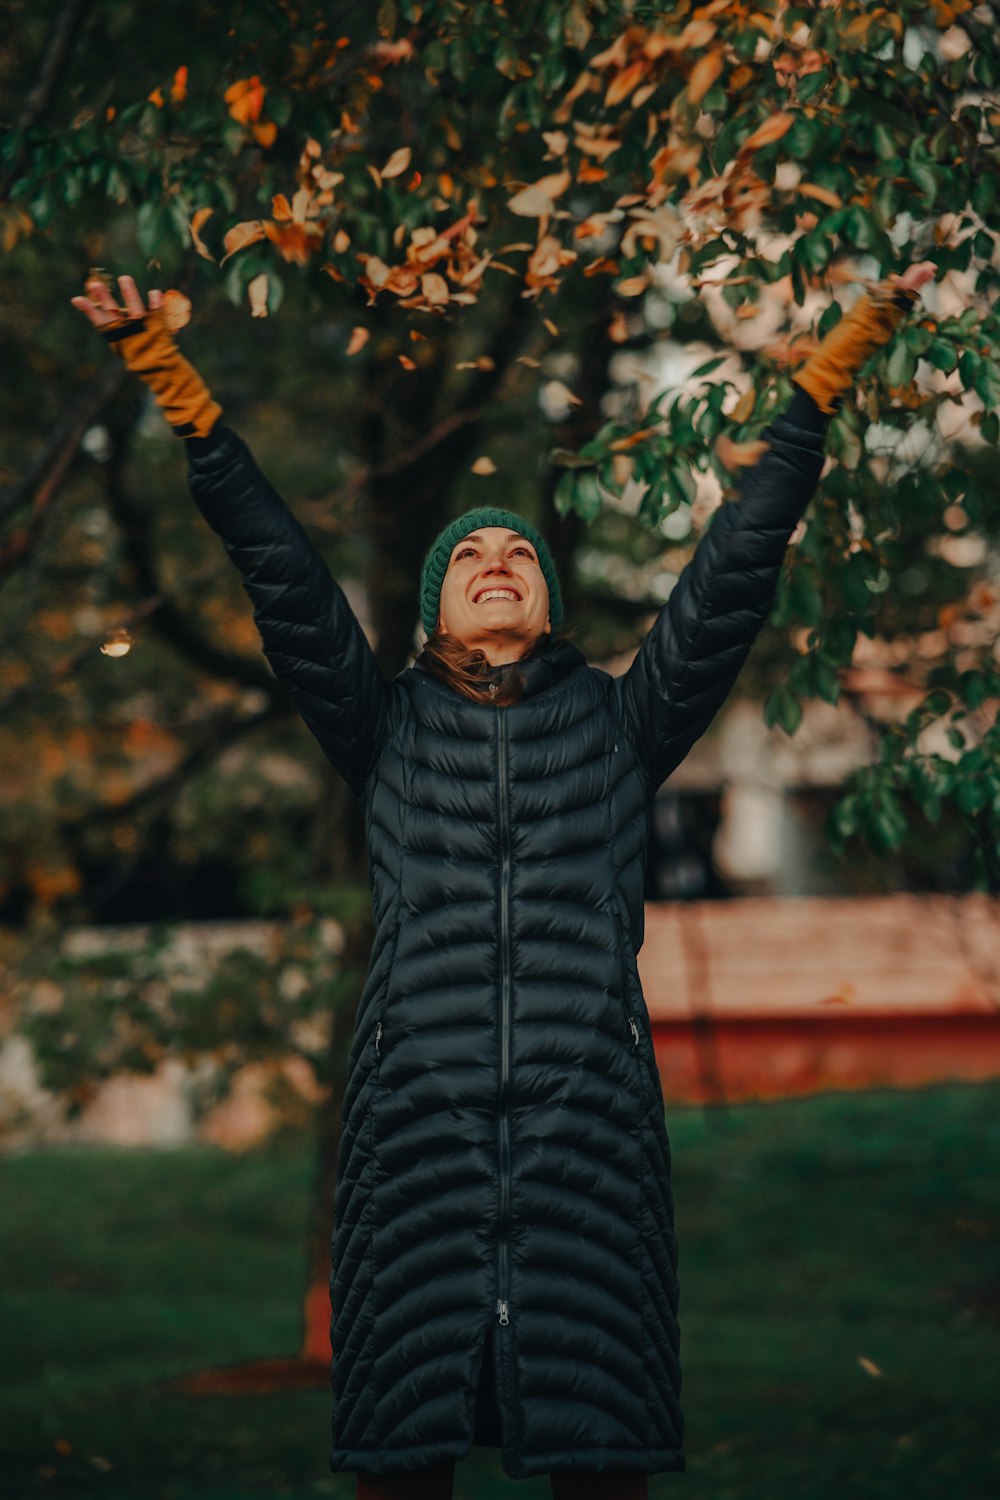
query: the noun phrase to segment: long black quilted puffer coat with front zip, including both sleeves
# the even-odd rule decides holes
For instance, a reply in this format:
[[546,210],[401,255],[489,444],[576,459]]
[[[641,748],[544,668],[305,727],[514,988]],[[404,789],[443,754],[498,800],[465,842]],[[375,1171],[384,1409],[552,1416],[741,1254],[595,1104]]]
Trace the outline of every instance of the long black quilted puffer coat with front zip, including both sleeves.
[[670,1144],[636,966],[651,801],[769,614],[825,424],[805,392],[772,420],[624,676],[553,640],[508,708],[417,668],[385,681],[243,441],[189,441],[267,657],[367,825],[333,1470],[474,1438],[513,1478],[685,1467]]

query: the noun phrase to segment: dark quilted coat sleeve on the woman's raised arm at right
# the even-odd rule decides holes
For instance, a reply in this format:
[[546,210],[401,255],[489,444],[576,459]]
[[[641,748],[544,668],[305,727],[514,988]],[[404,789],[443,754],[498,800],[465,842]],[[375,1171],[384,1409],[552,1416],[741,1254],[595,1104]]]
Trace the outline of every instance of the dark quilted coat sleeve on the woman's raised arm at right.
[[771,614],[789,537],[823,468],[828,422],[796,387],[760,434],[768,452],[741,471],[738,498],[712,516],[619,678],[622,714],[654,786],[705,734]]

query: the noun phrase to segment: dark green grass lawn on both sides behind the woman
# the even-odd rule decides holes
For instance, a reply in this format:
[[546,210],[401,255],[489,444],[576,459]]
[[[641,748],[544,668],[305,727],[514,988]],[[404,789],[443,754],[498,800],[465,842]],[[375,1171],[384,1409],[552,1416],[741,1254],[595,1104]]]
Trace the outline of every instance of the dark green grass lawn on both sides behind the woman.
[[[1000,1083],[667,1110],[684,1474],[652,1500],[997,1500]],[[292,1354],[310,1143],[0,1156],[0,1500],[349,1500]],[[456,1500],[549,1497],[492,1449]]]

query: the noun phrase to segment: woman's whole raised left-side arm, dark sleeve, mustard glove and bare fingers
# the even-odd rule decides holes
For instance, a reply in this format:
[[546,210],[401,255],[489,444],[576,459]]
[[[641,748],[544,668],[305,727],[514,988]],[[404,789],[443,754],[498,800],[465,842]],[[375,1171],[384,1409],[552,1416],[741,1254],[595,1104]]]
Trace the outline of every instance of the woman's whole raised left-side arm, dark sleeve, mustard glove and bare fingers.
[[243,438],[219,422],[222,408],[177,350],[169,303],[150,292],[147,310],[135,282],[120,280],[124,309],[100,282],[87,286],[93,302],[73,303],[84,312],[88,303],[90,321],[150,386],[171,428],[186,440],[192,496],[238,568],[264,654],[327,759],[360,798],[385,734],[388,682],[325,561]]

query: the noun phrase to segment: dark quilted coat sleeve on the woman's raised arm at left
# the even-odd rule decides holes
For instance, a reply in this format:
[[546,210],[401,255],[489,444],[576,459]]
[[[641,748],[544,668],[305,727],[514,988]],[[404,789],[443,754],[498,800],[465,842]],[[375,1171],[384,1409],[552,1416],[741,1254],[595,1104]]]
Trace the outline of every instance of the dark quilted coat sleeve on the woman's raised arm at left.
[[187,438],[187,483],[253,604],[264,654],[327,759],[360,798],[390,687],[340,585],[235,432]]

